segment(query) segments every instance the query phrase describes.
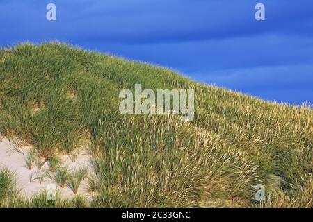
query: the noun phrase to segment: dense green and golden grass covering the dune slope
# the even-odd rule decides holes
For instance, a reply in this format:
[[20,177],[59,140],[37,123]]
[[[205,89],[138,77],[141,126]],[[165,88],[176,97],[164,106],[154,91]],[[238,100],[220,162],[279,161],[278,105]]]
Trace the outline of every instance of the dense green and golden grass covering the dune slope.
[[[195,89],[195,118],[120,114],[120,90],[136,83]],[[52,43],[0,51],[0,107],[1,135],[22,139],[47,160],[90,142],[97,186],[89,207],[313,207],[307,107]],[[257,184],[266,187],[262,204]],[[44,202],[11,198],[6,205]]]

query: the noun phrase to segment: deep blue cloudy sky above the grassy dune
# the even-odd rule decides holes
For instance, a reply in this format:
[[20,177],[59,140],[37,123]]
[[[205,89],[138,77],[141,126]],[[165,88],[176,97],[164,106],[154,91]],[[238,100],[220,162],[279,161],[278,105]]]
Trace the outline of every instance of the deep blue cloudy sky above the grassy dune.
[[262,99],[313,102],[312,0],[0,0],[0,12],[0,46],[61,40]]

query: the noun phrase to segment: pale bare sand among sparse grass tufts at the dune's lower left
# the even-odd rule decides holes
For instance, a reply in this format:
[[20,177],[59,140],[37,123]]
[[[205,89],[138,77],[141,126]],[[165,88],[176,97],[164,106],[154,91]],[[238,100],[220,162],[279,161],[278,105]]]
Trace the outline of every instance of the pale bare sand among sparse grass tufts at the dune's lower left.
[[[57,191],[63,198],[70,198],[74,196],[75,194],[69,186],[66,185],[64,188],[61,188],[54,180],[51,180],[47,176],[43,177],[43,180],[40,183],[40,180],[37,178],[38,171],[48,171],[49,167],[47,162],[45,162],[41,170],[39,170],[35,164],[33,164],[33,168],[31,170],[28,169],[26,167],[26,153],[30,149],[32,149],[32,147],[22,146],[19,147],[19,151],[17,151],[15,143],[6,138],[3,138],[0,142],[0,167],[7,167],[11,171],[15,172],[17,178],[17,188],[21,190],[21,194],[31,197],[38,191],[47,190],[48,185],[54,184],[57,187]],[[68,166],[69,171],[86,167],[86,169],[88,169],[88,176],[95,175],[93,165],[91,164],[91,156],[84,150],[80,151],[75,159],[75,162],[72,162],[68,155],[58,155],[58,157],[62,160],[62,164]],[[43,174],[45,173],[42,173],[42,175]],[[31,181],[31,178],[37,179]],[[78,194],[81,194],[86,198],[90,198],[91,194],[88,192],[87,187],[88,183],[87,179],[85,179],[79,186]]]

